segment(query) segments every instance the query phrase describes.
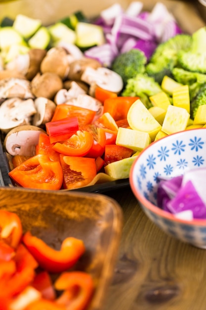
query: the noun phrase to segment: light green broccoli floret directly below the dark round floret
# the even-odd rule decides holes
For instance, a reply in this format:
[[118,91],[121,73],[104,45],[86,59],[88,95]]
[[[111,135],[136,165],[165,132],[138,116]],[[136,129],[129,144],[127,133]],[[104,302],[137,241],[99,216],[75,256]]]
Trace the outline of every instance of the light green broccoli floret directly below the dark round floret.
[[162,91],[161,86],[154,78],[149,77],[146,73],[138,73],[134,78],[127,81],[122,96],[137,96],[141,99],[142,103],[149,108],[152,106],[149,97]]

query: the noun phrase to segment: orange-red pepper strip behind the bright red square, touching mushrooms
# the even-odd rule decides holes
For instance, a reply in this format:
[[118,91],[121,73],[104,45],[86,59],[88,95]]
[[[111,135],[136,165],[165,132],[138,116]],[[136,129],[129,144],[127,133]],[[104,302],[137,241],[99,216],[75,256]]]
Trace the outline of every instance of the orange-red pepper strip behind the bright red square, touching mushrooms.
[[60,120],[66,117],[77,117],[80,125],[90,124],[96,112],[84,107],[62,103],[56,106],[51,121]]

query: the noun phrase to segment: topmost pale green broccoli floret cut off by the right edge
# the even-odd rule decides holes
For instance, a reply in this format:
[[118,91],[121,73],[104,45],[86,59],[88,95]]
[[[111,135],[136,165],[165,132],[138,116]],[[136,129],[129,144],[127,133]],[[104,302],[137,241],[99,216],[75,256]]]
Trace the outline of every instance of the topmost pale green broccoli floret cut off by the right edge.
[[191,48],[178,53],[178,62],[185,70],[206,73],[206,27],[193,33]]

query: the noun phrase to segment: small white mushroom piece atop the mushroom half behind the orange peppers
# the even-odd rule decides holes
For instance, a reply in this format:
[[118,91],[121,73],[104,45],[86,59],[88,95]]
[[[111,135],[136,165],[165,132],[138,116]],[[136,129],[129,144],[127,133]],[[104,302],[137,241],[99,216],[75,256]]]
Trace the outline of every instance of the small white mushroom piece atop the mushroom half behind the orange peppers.
[[66,89],[61,89],[58,91],[54,98],[56,104],[62,104],[71,98],[77,98],[81,94],[86,94],[86,92],[76,83],[71,83],[71,88],[67,91]]

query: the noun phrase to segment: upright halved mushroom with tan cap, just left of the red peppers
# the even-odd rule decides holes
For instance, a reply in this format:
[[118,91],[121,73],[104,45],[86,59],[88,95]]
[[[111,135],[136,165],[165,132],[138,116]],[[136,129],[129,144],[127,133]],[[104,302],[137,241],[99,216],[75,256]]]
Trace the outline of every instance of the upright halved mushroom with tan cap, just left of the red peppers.
[[44,97],[38,97],[35,99],[35,107],[37,113],[34,115],[32,122],[34,126],[41,126],[51,121],[56,108],[56,104],[53,101]]

